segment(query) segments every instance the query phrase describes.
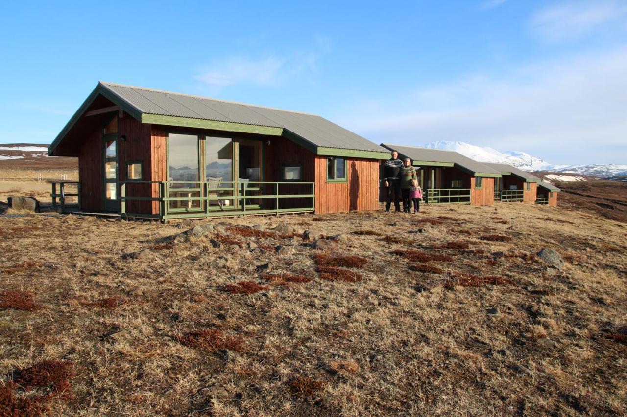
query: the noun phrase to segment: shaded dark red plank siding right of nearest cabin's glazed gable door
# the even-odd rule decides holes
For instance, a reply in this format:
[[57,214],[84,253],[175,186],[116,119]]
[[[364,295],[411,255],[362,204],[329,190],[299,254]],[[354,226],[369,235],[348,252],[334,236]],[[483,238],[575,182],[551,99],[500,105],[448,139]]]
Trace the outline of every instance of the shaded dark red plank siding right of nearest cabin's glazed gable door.
[[[124,115],[118,121],[119,136],[125,136],[125,140],[118,141],[119,179],[127,181],[127,163],[142,163],[142,181],[151,180],[152,152],[150,125],[142,124],[129,115]],[[132,197],[150,197],[152,195],[149,184],[126,183],[126,195]],[[149,201],[128,201],[127,213],[150,214],[152,203]]]

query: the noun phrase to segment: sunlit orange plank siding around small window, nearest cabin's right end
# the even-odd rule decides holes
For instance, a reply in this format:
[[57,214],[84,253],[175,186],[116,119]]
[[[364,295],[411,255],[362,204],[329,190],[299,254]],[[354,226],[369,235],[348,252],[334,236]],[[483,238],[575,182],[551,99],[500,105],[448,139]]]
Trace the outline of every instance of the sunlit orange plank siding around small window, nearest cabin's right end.
[[327,158],[315,157],[315,212],[379,209],[379,160],[347,158],[347,182],[327,183]]

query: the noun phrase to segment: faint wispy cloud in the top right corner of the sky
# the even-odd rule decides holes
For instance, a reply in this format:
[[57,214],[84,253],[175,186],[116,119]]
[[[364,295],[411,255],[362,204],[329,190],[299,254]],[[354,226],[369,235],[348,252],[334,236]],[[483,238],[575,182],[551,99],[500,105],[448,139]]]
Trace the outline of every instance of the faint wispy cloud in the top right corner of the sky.
[[530,31],[544,41],[578,38],[627,18],[623,1],[577,1],[540,9],[529,22]]

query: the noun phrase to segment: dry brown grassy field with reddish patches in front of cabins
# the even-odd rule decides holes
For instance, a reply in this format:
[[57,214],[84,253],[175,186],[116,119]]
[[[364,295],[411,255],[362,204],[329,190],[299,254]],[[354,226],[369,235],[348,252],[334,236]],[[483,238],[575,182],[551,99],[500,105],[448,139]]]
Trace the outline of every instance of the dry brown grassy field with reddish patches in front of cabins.
[[[164,239],[204,224],[216,228]],[[317,250],[304,230],[342,236]],[[626,232],[522,203],[167,225],[0,218],[0,405],[624,415]]]

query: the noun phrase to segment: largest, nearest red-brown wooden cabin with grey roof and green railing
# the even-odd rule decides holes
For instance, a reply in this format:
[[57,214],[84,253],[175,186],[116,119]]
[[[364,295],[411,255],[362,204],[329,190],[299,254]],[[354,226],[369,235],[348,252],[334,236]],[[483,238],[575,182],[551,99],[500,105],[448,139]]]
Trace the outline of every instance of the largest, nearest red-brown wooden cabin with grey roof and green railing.
[[389,154],[317,115],[102,82],[48,153],[78,157],[81,210],[162,220],[376,210]]

